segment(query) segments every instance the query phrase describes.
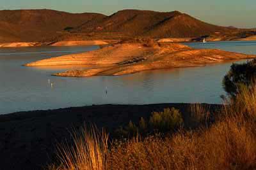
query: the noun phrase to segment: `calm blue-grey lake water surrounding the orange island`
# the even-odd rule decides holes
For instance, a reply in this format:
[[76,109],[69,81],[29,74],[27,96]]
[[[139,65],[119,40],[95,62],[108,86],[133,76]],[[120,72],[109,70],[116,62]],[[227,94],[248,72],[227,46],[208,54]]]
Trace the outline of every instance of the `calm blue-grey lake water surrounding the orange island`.
[[[187,45],[194,48],[220,48],[256,54],[256,41]],[[35,60],[97,48],[1,48],[0,114],[92,104],[221,103],[220,95],[225,94],[221,80],[232,62],[205,67],[145,71],[125,76],[89,78],[51,76],[52,73],[84,66],[22,66]]]

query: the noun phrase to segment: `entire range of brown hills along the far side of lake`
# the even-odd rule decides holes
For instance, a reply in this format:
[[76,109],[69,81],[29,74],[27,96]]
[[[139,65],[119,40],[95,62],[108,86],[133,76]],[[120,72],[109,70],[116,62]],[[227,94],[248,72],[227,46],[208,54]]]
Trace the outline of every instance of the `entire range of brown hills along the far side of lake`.
[[54,10],[0,11],[0,41],[44,41],[58,36],[114,38],[198,37],[232,29],[207,24],[179,11],[122,10],[111,16],[99,13],[66,13]]

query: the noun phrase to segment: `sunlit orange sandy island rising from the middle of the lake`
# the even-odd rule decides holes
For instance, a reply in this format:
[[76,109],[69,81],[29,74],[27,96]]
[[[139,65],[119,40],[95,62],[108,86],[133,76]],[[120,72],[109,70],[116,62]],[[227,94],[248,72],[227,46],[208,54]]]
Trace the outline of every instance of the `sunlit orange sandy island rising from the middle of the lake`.
[[179,43],[148,46],[143,43],[124,43],[102,49],[51,59],[39,60],[26,66],[59,66],[74,64],[115,64],[94,69],[70,70],[55,76],[118,76],[154,69],[197,67],[227,60],[252,59],[246,55],[223,50],[193,49]]

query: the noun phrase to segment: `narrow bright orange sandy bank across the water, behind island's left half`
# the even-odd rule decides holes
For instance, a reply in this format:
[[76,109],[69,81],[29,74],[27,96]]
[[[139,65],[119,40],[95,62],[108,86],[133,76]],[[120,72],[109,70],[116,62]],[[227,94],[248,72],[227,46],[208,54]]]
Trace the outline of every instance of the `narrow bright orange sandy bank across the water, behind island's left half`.
[[90,46],[90,45],[108,45],[106,41],[92,40],[92,41],[58,41],[51,46]]

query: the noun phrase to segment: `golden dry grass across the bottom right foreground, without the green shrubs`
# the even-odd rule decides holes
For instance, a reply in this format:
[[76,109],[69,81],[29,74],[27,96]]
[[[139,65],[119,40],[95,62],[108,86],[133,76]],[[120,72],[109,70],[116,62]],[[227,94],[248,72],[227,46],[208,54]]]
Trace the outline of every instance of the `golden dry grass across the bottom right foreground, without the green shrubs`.
[[[200,104],[191,112],[198,121],[207,118]],[[222,112],[210,127],[134,138],[108,151],[107,138],[84,133],[74,138],[76,152],[65,148],[60,159],[65,169],[256,169],[256,88],[242,90]]]

